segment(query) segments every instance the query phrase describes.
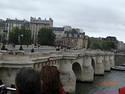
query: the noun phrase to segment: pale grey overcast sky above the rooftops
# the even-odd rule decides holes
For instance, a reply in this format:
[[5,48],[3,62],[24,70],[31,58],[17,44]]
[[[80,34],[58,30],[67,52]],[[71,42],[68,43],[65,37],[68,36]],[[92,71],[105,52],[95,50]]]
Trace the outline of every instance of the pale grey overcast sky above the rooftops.
[[125,42],[125,0],[0,0],[0,18],[54,20],[54,26],[81,28],[94,37]]

